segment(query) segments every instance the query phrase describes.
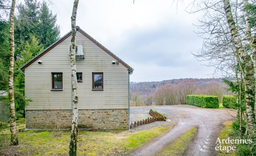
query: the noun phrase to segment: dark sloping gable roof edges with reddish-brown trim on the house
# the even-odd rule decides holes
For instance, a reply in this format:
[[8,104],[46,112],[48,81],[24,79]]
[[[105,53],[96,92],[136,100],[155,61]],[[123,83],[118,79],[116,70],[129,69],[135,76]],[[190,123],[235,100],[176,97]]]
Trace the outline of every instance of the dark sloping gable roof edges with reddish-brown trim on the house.
[[[130,67],[127,63],[123,62],[120,58],[118,58],[115,54],[113,54],[109,49],[105,48],[101,43],[99,43],[97,40],[92,38],[89,34],[84,32],[79,26],[77,26],[77,31],[82,33],[84,36],[86,36],[89,40],[94,42],[96,45],[98,45],[101,49],[106,51],[109,55],[111,55],[113,58],[118,60],[122,65],[124,65],[127,69],[129,69],[129,72],[132,71],[132,67]],[[33,57],[31,60],[29,60],[27,63],[25,63],[23,66],[20,67],[20,70],[24,71],[27,66],[29,66],[31,63],[35,62],[38,58],[40,58],[42,55],[44,55],[46,52],[50,51],[52,48],[54,48],[56,45],[58,45],[60,42],[62,42],[67,37],[71,36],[71,31],[69,31],[67,34],[65,34],[63,37],[58,39],[56,42],[52,43],[52,45],[48,46],[46,49],[41,51],[39,54],[37,54],[35,57]]]

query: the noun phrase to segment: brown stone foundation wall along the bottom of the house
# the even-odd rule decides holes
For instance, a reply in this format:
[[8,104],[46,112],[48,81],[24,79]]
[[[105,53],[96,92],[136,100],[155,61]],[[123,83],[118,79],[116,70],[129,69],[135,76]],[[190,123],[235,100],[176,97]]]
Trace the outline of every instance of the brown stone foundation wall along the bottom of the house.
[[[71,128],[71,110],[26,110],[26,128]],[[78,128],[128,129],[128,109],[78,110]]]

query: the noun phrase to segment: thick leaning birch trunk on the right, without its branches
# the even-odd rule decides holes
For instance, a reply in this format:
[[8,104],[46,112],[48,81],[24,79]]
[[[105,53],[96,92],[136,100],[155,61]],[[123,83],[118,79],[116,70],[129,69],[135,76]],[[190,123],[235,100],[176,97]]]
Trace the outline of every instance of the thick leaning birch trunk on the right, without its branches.
[[254,65],[250,55],[244,50],[241,39],[239,38],[238,31],[236,29],[235,21],[231,12],[230,1],[223,0],[225,15],[227,23],[231,33],[231,39],[235,44],[235,48],[238,54],[244,60],[245,63],[245,104],[248,117],[248,128],[255,129],[255,114],[254,114],[254,93],[253,93],[253,82],[254,82]]

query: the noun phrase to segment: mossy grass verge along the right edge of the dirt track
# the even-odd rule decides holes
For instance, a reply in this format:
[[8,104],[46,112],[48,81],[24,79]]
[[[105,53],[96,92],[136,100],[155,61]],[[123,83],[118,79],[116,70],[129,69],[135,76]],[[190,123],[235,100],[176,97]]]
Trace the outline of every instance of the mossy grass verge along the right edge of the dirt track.
[[[221,130],[221,133],[219,133],[219,139],[222,140],[222,139],[227,139],[228,137],[230,137],[230,133],[233,131],[231,125],[232,125],[232,121],[225,121],[223,123],[224,125],[224,128]],[[231,139],[231,138],[230,138]],[[234,144],[226,144],[224,142],[224,144],[221,144],[222,146],[234,146]],[[238,154],[236,153],[236,150],[235,151],[223,151],[223,150],[219,150],[219,153],[218,153],[219,156],[237,156]]]

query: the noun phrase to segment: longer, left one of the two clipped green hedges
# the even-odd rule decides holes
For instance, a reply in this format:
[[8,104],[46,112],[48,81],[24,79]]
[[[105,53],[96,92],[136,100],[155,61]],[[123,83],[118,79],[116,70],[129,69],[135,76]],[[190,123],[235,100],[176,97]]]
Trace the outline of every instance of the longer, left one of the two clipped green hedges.
[[219,98],[208,95],[187,95],[187,104],[203,108],[219,108]]

